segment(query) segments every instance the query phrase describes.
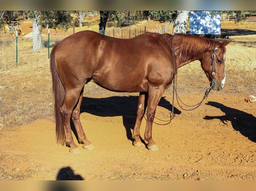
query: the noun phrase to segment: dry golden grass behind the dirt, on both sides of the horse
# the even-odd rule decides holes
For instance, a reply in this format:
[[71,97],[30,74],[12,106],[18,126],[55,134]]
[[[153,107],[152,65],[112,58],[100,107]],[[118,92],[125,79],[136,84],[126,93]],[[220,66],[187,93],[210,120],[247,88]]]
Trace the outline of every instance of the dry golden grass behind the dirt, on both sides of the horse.
[[[226,54],[226,86],[221,94],[255,94],[256,36],[232,38],[233,41],[228,45]],[[32,52],[31,44],[23,47],[18,53],[17,67],[13,50],[16,53],[15,42],[1,44],[0,137],[3,130],[13,129],[17,125],[53,115],[47,48]],[[26,50],[30,52],[25,52]],[[208,80],[198,61],[178,70],[178,92],[202,92],[203,94],[207,87]],[[89,91],[85,91],[90,95],[91,90],[95,89],[102,92],[100,87],[93,84],[89,86]],[[167,92],[171,93],[171,88]]]

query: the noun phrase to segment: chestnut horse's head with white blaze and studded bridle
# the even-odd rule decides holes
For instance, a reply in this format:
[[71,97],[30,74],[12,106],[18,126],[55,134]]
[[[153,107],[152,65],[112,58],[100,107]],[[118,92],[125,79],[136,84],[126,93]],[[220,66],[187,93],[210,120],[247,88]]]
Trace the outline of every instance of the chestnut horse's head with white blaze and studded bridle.
[[230,42],[216,42],[215,46],[200,60],[211,87],[215,91],[222,90],[225,85],[225,46]]

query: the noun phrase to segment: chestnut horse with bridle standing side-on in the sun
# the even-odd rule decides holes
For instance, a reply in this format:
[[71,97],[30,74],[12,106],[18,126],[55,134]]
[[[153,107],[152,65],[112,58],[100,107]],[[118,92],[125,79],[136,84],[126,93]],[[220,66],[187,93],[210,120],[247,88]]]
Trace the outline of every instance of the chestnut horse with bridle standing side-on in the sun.
[[[211,89],[220,91],[225,85],[225,46],[229,43],[191,34],[151,32],[119,39],[81,31],[63,39],[50,54],[57,143],[66,144],[70,152],[80,152],[72,136],[72,118],[79,143],[84,149],[94,148],[79,119],[85,85],[93,82],[114,92],[139,93],[132,144],[158,150],[152,139],[152,123],[177,69],[201,61]],[[146,108],[145,145],[140,139],[140,125]]]

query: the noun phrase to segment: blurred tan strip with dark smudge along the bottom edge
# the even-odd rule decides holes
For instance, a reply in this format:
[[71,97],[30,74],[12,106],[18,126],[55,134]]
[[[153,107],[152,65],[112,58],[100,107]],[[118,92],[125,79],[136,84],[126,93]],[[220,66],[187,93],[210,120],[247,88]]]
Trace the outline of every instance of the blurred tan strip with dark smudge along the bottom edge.
[[0,181],[2,191],[238,191],[255,190],[256,181]]

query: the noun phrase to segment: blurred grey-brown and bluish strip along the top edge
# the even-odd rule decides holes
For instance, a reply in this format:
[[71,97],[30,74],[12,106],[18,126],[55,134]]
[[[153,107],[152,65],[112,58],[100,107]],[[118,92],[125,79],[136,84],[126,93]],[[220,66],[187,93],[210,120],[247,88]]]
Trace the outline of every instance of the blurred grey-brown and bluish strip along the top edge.
[[255,10],[251,0],[13,0],[2,1],[1,10]]

